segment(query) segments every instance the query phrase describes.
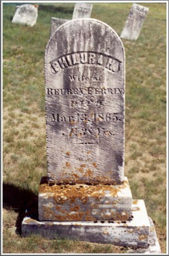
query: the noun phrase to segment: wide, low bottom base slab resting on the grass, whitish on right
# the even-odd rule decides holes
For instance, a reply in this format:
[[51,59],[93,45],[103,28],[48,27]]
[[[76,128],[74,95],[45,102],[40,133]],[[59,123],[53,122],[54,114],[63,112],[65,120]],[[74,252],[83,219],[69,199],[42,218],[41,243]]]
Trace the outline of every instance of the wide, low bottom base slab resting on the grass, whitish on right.
[[[134,247],[135,250],[131,250],[131,253],[136,248],[139,248],[138,253],[160,251],[155,229],[143,200],[133,200],[131,221],[38,221],[33,216],[27,216],[22,222],[22,236],[28,237],[31,234],[47,239],[64,238]],[[145,250],[140,252],[140,248]]]

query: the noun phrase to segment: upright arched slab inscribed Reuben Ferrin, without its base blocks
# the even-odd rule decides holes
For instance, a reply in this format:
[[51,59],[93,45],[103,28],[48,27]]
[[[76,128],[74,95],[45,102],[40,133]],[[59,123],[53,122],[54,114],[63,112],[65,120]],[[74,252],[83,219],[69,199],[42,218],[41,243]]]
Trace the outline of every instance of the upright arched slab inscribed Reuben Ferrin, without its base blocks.
[[45,50],[47,176],[58,183],[124,181],[125,52],[96,19],[61,25]]

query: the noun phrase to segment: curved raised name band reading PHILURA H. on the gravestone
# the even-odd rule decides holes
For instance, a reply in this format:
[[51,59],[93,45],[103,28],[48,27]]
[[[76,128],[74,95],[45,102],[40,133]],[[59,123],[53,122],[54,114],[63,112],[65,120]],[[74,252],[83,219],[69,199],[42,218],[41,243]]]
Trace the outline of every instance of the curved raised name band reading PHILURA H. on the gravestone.
[[120,69],[120,61],[98,52],[75,52],[58,57],[51,62],[51,72],[57,74],[59,70],[79,64],[103,66],[107,70],[117,73]]

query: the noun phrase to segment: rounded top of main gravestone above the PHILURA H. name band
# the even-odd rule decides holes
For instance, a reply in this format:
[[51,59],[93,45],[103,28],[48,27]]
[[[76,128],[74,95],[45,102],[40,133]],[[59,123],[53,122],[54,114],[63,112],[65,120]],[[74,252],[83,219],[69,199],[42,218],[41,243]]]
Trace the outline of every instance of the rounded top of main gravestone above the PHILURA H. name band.
[[[56,49],[57,55],[77,51],[98,51],[124,60],[125,50],[118,34],[106,23],[93,18],[79,18],[61,25],[50,37],[45,55]],[[73,49],[74,48],[74,49]],[[53,57],[53,56],[52,56]]]

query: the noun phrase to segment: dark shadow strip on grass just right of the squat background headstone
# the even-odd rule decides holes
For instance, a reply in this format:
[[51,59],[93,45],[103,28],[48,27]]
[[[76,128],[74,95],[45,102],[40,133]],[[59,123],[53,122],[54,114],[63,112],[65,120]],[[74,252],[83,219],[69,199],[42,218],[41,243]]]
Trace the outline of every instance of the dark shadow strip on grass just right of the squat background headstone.
[[74,12],[74,7],[69,7],[67,5],[63,6],[53,6],[53,5],[39,5],[39,9],[38,11],[43,10],[46,12],[55,12],[57,14],[57,12],[63,12],[63,13],[70,13],[73,14]]

